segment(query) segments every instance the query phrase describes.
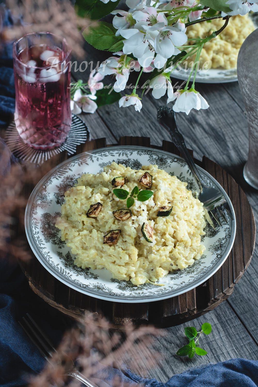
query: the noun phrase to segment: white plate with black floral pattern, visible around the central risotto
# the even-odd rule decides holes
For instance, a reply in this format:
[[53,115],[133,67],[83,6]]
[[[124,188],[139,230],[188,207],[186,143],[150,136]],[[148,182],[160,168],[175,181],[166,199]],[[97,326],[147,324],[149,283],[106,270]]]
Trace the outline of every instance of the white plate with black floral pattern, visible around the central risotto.
[[[200,260],[184,270],[167,274],[160,283],[133,285],[130,281],[112,278],[106,269],[82,269],[73,265],[74,257],[55,228],[60,215],[64,193],[82,173],[97,173],[112,161],[140,169],[142,165],[157,164],[171,175],[188,183],[188,189],[198,187],[185,161],[172,153],[140,146],[113,146],[84,152],[63,161],[36,185],[29,198],[25,213],[26,235],[32,251],[41,264],[59,281],[86,295],[116,302],[150,302],[185,293],[211,277],[226,260],[231,251],[236,219],[228,217],[228,224],[214,230],[207,224],[203,237],[205,252]],[[220,184],[205,170],[198,167],[205,182],[218,187],[234,214],[231,201]]]

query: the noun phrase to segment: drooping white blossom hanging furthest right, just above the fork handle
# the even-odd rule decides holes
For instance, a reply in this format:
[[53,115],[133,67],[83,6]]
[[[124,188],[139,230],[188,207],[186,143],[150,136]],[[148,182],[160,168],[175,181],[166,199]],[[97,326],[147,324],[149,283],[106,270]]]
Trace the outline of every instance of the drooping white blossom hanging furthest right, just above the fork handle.
[[167,99],[167,103],[174,101],[176,102],[173,105],[173,110],[176,112],[182,111],[187,115],[190,113],[192,109],[200,110],[200,109],[208,109],[209,105],[201,94],[194,89],[190,90],[178,90],[174,92],[172,98]]

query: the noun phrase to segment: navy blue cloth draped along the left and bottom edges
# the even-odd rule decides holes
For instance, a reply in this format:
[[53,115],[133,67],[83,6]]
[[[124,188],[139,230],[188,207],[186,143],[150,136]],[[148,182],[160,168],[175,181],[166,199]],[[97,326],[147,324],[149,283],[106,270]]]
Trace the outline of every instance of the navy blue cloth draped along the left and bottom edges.
[[[12,24],[9,11],[5,12],[3,24]],[[12,119],[14,112],[11,58],[12,49],[8,45],[0,56],[0,125]],[[0,140],[0,178],[9,173],[11,161],[7,147]],[[44,368],[44,359],[17,322],[27,312],[40,322],[53,343],[58,345],[63,332],[69,327],[67,320],[31,291],[19,265],[10,260],[7,251],[0,257],[0,387],[26,385],[30,375]],[[112,387],[114,377],[120,378],[121,386],[140,383],[146,387],[257,387],[258,361],[232,359],[195,368],[174,375],[166,384],[141,378],[130,370],[121,372],[111,367],[108,368],[108,377],[95,376],[103,387]]]

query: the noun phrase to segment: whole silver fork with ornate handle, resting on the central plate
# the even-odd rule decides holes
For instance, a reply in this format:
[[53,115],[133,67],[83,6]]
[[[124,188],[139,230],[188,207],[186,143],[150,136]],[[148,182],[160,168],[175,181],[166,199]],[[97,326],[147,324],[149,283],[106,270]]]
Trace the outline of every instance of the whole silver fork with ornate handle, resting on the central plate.
[[218,225],[222,226],[222,221],[226,224],[228,223],[224,210],[227,211],[233,220],[233,214],[222,192],[220,192],[217,188],[208,187],[203,181],[200,172],[196,168],[196,165],[186,148],[185,140],[178,131],[174,111],[167,106],[160,106],[157,111],[157,120],[169,132],[173,143],[181,152],[183,158],[188,164],[188,167],[200,190],[198,199],[203,203],[203,207],[206,209],[214,228]]

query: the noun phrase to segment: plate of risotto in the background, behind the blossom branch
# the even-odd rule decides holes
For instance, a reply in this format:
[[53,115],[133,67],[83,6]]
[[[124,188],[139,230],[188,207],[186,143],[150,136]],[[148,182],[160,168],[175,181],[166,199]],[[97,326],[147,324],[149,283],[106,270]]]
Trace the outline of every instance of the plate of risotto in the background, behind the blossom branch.
[[[237,81],[237,55],[244,40],[256,29],[256,17],[255,14],[251,17],[249,15],[232,16],[224,31],[216,38],[205,43],[200,55],[196,82],[224,83]],[[217,31],[223,24],[224,20],[222,19],[193,24],[187,27],[186,34],[191,42],[191,38],[205,38],[212,32]],[[187,79],[194,60],[195,55],[187,58],[186,62],[183,62],[173,71],[172,77]]]

